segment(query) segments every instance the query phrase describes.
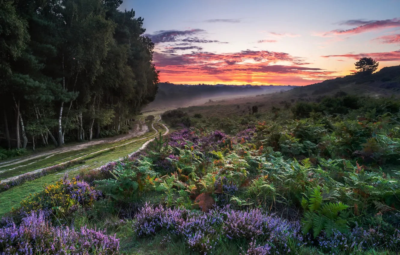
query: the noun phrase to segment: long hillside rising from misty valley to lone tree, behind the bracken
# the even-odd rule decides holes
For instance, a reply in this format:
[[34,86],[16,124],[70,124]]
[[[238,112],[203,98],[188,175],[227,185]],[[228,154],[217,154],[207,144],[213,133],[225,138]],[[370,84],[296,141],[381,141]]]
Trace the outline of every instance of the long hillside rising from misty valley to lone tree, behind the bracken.
[[[338,94],[338,92],[340,92]],[[343,93],[344,92],[344,93]],[[198,104],[183,108],[188,114],[200,113],[205,116],[248,115],[252,106],[258,107],[258,112],[270,111],[273,107],[290,108],[299,101],[318,101],[324,96],[357,95],[382,98],[400,96],[400,66],[382,68],[370,76],[349,75],[307,86],[294,87],[288,91],[278,91],[256,96],[242,96]]]

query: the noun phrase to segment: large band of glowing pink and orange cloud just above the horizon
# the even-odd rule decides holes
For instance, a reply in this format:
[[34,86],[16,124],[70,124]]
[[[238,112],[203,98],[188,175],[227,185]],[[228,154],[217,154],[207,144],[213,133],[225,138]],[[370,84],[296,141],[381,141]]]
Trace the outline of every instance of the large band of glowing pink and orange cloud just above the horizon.
[[173,83],[256,83],[307,85],[336,78],[337,73],[306,66],[304,60],[284,52],[244,50],[215,54],[154,53],[160,80]]

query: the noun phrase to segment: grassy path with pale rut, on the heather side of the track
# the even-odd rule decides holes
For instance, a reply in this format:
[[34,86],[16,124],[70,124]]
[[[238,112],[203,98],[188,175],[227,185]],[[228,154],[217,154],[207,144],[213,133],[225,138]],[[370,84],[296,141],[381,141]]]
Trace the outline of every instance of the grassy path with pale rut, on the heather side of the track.
[[[81,155],[78,151],[75,151],[78,157],[70,157],[71,159],[84,159],[85,162],[81,165],[72,166],[60,173],[52,173],[41,177],[39,179],[28,181],[22,185],[12,187],[8,191],[0,193],[0,217],[5,213],[9,212],[12,207],[18,207],[21,200],[25,199],[30,193],[35,193],[43,189],[44,185],[54,183],[58,181],[65,173],[70,176],[77,175],[80,171],[87,171],[89,169],[96,169],[102,165],[106,165],[110,161],[115,161],[121,157],[133,154],[138,150],[144,149],[146,145],[154,140],[158,132],[162,132],[166,135],[169,132],[168,127],[164,124],[159,123],[160,118],[155,120],[151,127],[152,130],[142,137],[136,137],[136,139],[124,141],[117,145],[109,146],[108,148],[102,148],[85,155]],[[110,145],[110,144],[109,144]]]

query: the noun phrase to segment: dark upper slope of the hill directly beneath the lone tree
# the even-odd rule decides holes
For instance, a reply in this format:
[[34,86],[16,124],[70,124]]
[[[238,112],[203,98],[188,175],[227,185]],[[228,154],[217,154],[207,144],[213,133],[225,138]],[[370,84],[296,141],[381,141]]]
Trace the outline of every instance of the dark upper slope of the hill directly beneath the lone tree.
[[337,92],[366,96],[400,95],[400,66],[384,67],[371,75],[348,75],[324,82],[297,87],[286,92],[292,96],[314,97]]

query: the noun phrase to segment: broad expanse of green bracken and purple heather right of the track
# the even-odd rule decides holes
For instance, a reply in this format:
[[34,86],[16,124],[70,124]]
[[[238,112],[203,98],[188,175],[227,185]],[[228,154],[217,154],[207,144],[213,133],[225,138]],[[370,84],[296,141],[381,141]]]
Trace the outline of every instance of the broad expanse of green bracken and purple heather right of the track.
[[230,134],[186,114],[194,127],[50,185],[12,215],[117,217],[126,240],[159,240],[166,254],[398,253],[399,110],[391,98],[321,98],[228,116]]

